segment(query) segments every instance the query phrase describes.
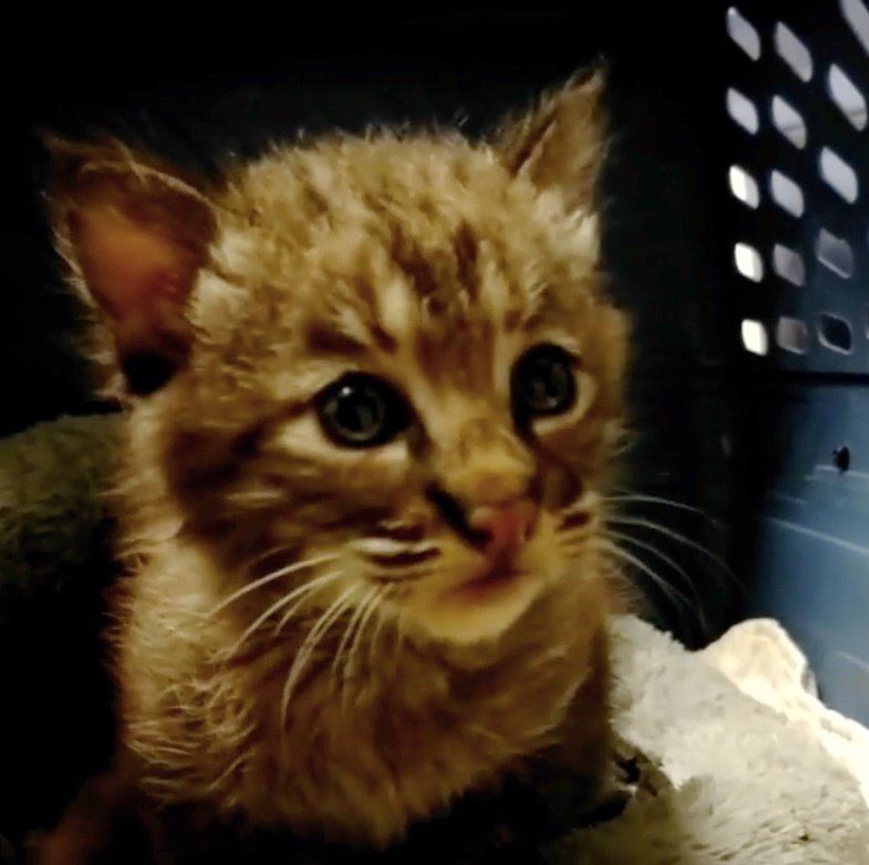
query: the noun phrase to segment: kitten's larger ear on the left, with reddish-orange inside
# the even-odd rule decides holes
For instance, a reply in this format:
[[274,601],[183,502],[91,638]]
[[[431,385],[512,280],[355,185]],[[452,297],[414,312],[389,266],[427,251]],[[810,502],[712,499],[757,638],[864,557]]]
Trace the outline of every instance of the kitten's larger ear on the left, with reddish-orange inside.
[[45,144],[71,282],[107,329],[97,342],[113,348],[128,389],[152,393],[188,355],[185,308],[214,236],[211,206],[200,184],[117,142]]

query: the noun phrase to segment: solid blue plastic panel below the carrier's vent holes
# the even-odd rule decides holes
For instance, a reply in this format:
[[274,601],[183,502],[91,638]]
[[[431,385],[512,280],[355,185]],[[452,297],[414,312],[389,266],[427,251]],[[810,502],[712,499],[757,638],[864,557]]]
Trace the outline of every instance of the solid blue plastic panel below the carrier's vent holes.
[[869,723],[869,387],[779,389],[757,403],[775,479],[759,508],[751,613],[779,618],[825,701]]

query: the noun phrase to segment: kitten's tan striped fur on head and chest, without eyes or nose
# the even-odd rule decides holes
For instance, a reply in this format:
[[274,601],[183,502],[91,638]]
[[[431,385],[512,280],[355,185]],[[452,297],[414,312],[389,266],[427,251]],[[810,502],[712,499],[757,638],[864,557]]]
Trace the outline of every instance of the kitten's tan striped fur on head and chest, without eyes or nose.
[[[334,137],[276,148],[197,192],[214,226],[178,313],[190,342],[164,387],[130,400],[117,472],[122,740],[157,802],[382,845],[544,752],[598,771],[611,565],[596,540],[625,326],[597,271],[596,82],[499,145]],[[83,205],[74,179],[59,188],[81,283],[64,219]],[[579,399],[520,435],[510,372],[544,342],[581,358]],[[406,395],[405,434],[365,450],[323,435],[312,397],[349,369]],[[463,592],[480,553],[441,518],[432,484],[468,508],[532,491],[541,514],[515,579]],[[396,543],[436,554],[372,562]],[[318,564],[227,602],[307,560]],[[279,634],[286,607],[241,639],[288,591],[339,572]],[[592,680],[598,696],[580,699]]]

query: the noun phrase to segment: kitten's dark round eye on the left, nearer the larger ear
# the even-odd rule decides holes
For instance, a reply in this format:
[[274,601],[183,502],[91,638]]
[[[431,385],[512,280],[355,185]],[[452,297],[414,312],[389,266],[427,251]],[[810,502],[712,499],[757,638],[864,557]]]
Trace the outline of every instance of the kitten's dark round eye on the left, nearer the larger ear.
[[318,414],[329,438],[353,448],[385,445],[410,421],[395,389],[363,373],[351,373],[329,385],[318,399]]

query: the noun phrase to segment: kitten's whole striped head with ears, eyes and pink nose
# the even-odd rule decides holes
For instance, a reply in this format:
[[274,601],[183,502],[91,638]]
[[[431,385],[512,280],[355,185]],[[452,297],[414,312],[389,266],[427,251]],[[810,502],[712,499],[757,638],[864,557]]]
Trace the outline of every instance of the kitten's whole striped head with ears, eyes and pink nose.
[[[597,92],[556,98],[571,93],[569,121],[588,127]],[[559,119],[552,104],[541,114]],[[120,168],[75,169],[63,249],[92,296],[123,301],[103,315],[131,381],[155,358],[166,371],[156,389],[144,375],[133,436],[227,593],[310,561],[300,609],[376,605],[469,643],[594,579],[625,329],[598,285],[597,150],[576,169],[599,132],[556,183],[568,150],[551,117],[495,147],[384,135],[277,150],[197,190],[201,216],[180,228],[154,199],[177,212],[194,192],[166,189],[163,168],[159,196],[149,180],[137,192],[146,209],[118,192]],[[151,258],[89,246],[106,231],[126,250],[144,231]],[[275,597],[263,588],[263,609]]]

